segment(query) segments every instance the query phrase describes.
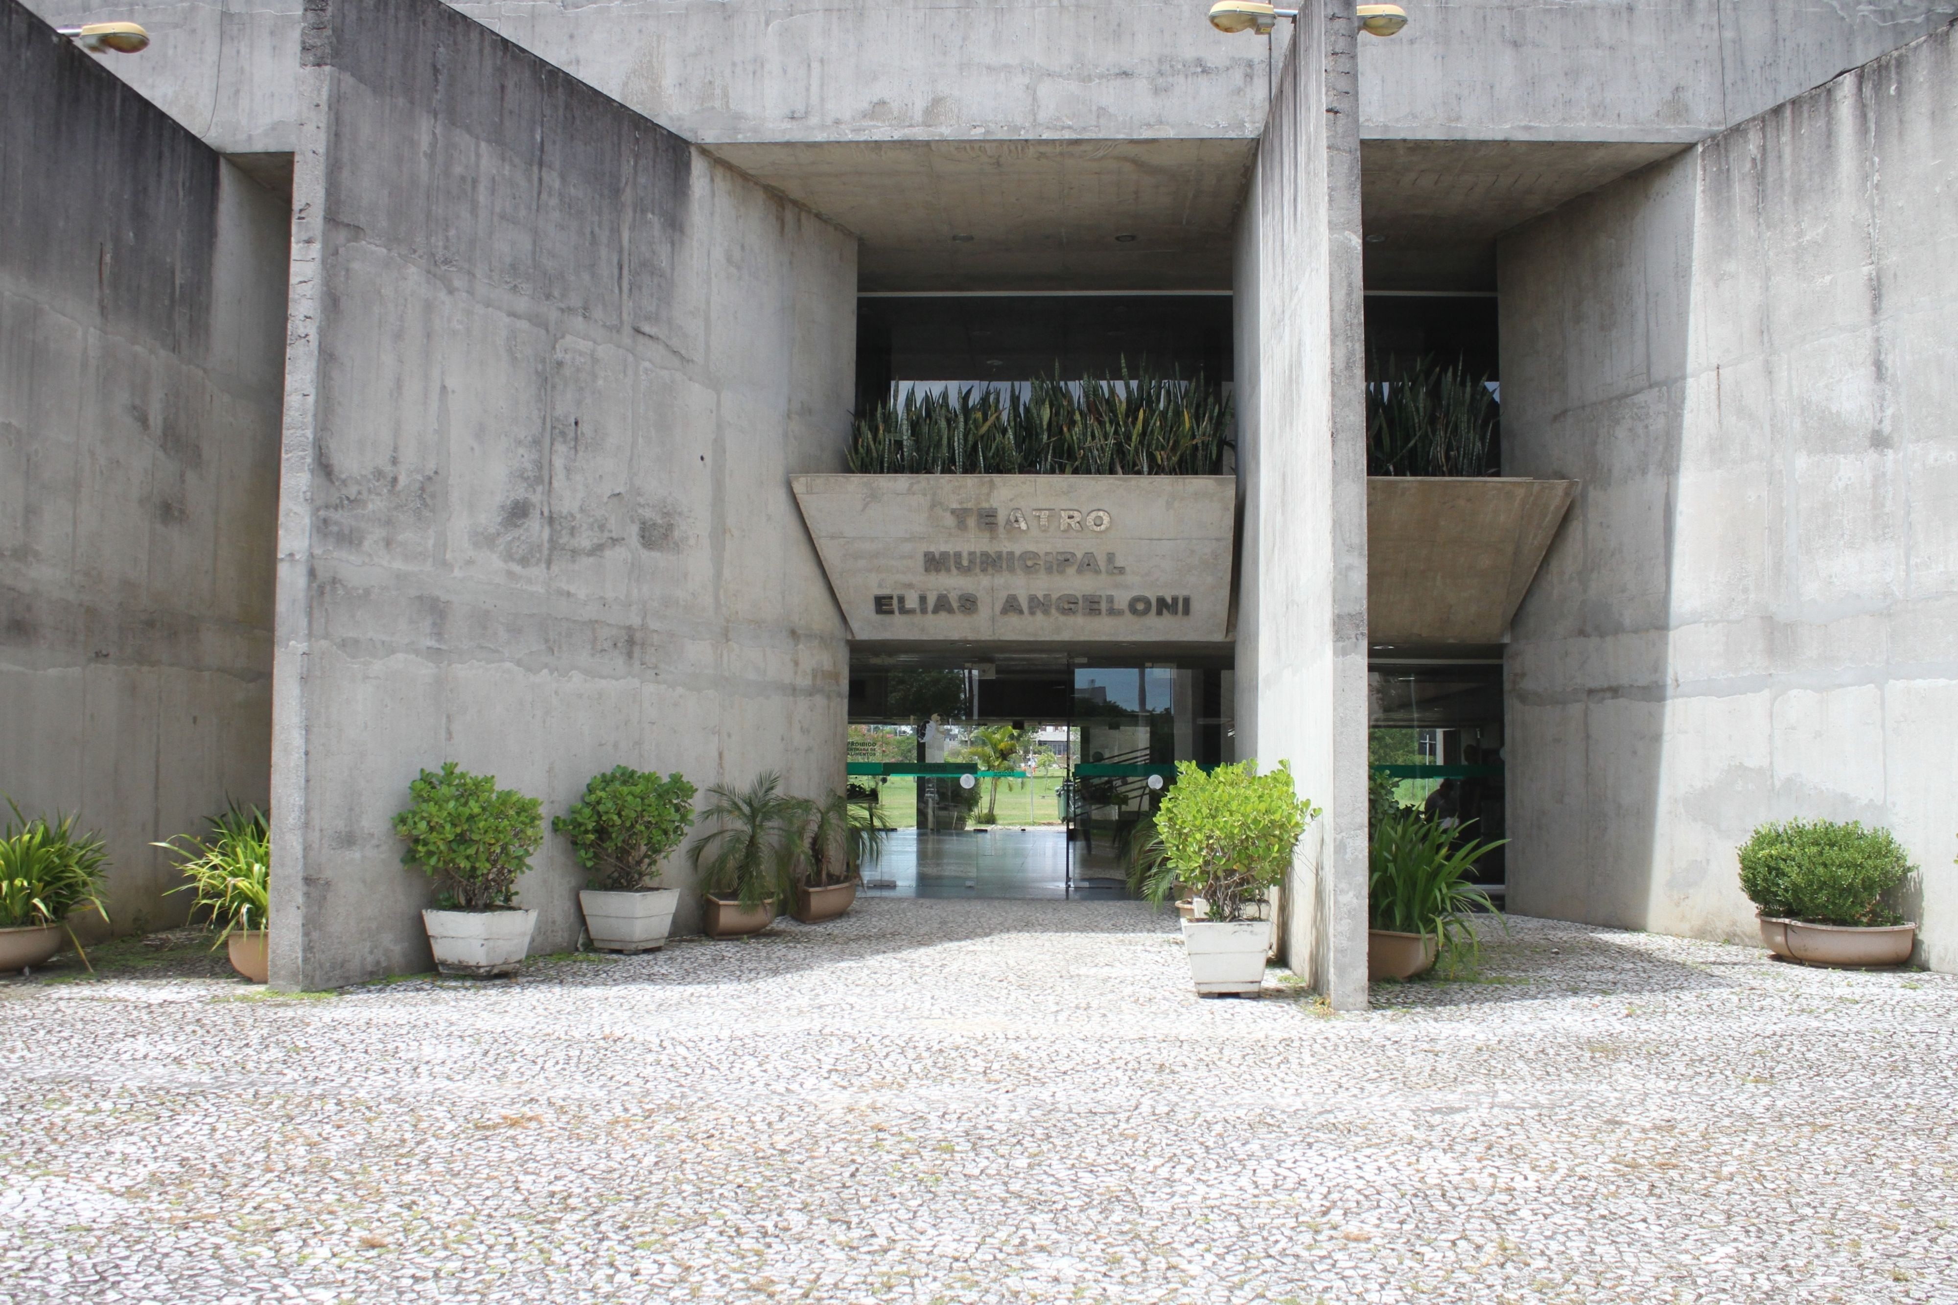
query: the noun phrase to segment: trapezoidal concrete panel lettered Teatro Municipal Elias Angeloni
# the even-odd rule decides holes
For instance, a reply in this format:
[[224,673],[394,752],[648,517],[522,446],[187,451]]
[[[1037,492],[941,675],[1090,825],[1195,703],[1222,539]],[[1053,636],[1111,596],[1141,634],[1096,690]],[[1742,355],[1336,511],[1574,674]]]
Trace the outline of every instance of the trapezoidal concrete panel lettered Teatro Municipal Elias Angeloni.
[[1230,476],[797,476],[795,500],[852,639],[1228,637]]

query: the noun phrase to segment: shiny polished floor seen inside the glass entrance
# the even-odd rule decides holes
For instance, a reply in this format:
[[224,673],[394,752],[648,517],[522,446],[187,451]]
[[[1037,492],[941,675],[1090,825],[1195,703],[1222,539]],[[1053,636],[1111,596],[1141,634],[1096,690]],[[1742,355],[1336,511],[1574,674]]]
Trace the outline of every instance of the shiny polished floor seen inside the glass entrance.
[[863,866],[863,894],[873,897],[1128,897],[1122,870],[1106,848],[1073,846],[1069,888],[1067,829],[965,829],[930,833],[895,829]]

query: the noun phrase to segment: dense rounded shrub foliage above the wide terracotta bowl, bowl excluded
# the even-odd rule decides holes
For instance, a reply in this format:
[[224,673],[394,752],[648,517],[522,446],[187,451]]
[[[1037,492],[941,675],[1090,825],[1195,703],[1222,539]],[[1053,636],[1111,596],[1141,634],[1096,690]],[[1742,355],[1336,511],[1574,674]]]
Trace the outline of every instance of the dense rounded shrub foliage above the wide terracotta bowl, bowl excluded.
[[1915,870],[1888,829],[1780,821],[1741,845],[1741,890],[1762,915],[1815,925],[1897,925],[1884,894]]

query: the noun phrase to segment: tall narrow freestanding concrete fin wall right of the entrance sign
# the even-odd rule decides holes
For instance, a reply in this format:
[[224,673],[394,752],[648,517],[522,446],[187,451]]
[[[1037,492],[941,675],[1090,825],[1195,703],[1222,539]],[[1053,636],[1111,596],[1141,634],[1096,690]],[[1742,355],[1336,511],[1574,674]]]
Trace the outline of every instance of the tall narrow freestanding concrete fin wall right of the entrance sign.
[[1353,6],[1314,0],[1237,233],[1237,756],[1292,764],[1324,815],[1284,901],[1286,960],[1367,1005],[1367,453]]

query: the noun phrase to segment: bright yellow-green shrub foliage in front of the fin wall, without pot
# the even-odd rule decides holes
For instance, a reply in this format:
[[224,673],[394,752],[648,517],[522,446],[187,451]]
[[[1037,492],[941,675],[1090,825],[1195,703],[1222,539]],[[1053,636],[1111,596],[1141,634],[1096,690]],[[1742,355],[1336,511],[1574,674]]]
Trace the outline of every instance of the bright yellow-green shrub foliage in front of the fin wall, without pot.
[[1235,921],[1243,919],[1245,903],[1284,880],[1298,839],[1318,813],[1296,794],[1286,762],[1269,774],[1259,774],[1255,760],[1210,774],[1194,762],[1177,762],[1177,784],[1155,811],[1155,837],[1163,866],[1204,899],[1210,919]]

